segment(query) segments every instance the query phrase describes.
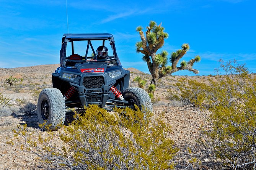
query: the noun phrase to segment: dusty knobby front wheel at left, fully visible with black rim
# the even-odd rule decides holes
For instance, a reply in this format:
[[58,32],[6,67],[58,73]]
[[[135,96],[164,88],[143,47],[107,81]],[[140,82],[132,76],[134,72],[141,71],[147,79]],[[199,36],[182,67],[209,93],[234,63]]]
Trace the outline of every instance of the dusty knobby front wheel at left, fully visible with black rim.
[[45,88],[38,98],[38,120],[42,124],[46,120],[50,130],[57,130],[62,127],[65,121],[66,107],[65,100],[57,88]]

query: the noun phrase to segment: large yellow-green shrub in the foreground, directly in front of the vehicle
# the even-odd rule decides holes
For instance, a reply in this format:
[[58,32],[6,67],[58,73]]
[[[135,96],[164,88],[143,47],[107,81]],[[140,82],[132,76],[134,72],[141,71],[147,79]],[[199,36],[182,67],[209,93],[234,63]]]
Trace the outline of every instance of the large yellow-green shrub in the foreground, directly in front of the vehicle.
[[[139,110],[139,109],[138,109]],[[163,117],[155,121],[152,113],[116,109],[107,112],[96,105],[86,107],[84,114],[64,126],[56,147],[56,133],[33,138],[26,126],[15,130],[21,148],[35,152],[47,163],[72,169],[168,169],[177,149],[167,138],[170,128]],[[54,135],[55,134],[55,135]],[[12,141],[10,141],[12,143]]]

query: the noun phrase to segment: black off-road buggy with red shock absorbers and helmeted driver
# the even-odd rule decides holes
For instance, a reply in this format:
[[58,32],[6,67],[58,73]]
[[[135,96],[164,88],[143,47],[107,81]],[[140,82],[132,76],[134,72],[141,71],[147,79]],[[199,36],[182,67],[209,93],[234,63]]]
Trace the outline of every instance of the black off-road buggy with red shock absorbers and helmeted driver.
[[129,88],[129,79],[112,34],[64,34],[60,67],[52,73],[53,88],[43,89],[39,95],[39,123],[46,121],[50,129],[58,129],[64,124],[67,108],[89,104],[108,111],[114,107],[135,109],[136,104],[143,111],[152,111],[147,92]]

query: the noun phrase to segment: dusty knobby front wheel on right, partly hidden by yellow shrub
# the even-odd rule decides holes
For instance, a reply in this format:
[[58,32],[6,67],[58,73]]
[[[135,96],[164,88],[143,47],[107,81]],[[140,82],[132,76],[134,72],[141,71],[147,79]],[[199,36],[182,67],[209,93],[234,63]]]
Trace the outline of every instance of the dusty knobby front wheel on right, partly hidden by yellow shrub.
[[129,102],[131,109],[134,109],[134,104],[136,104],[141,111],[152,112],[152,102],[148,93],[142,88],[130,87],[123,91],[122,93],[124,99]]

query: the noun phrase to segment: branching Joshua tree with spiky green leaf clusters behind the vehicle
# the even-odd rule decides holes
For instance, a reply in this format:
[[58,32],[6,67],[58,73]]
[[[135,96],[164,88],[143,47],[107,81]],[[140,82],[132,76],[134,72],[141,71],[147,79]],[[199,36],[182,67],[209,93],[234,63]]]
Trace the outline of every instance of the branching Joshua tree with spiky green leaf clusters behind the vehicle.
[[163,47],[164,39],[168,38],[168,34],[164,31],[164,27],[161,24],[157,25],[155,21],[150,21],[149,26],[147,27],[146,36],[142,31],[142,27],[139,26],[136,28],[136,31],[140,34],[140,42],[135,44],[136,51],[138,53],[142,53],[143,61],[147,62],[148,70],[152,75],[151,84],[157,85],[158,79],[164,77],[168,74],[172,74],[176,71],[180,70],[189,70],[198,74],[199,71],[193,69],[192,66],[194,62],[200,61],[200,56],[196,56],[195,58],[186,61],[181,61],[180,66],[177,67],[179,60],[186,54],[189,50],[189,44],[184,43],[181,46],[180,50],[171,53],[170,55],[170,63],[171,66],[167,66],[168,64],[168,52],[163,50],[161,53],[157,54],[157,50]]

